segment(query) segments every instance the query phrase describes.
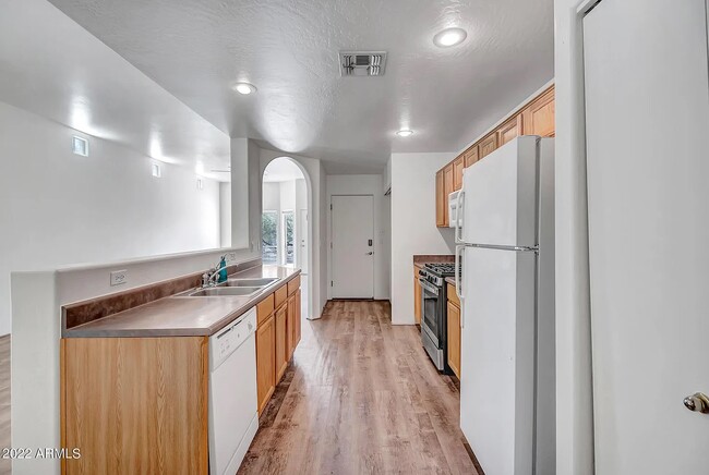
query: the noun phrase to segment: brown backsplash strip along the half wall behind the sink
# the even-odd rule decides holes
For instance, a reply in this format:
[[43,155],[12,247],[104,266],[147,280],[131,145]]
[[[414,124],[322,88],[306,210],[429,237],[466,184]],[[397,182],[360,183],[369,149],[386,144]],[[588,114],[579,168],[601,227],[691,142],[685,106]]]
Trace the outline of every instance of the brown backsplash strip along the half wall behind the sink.
[[[261,266],[260,258],[228,266],[227,271],[229,275],[232,275],[256,266]],[[199,287],[202,283],[202,273],[203,272],[191,273],[156,282],[154,284],[64,305],[61,308],[62,332],[69,328],[108,317],[109,315],[118,314]]]

